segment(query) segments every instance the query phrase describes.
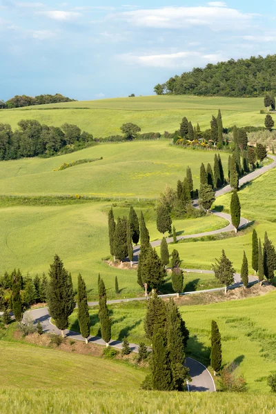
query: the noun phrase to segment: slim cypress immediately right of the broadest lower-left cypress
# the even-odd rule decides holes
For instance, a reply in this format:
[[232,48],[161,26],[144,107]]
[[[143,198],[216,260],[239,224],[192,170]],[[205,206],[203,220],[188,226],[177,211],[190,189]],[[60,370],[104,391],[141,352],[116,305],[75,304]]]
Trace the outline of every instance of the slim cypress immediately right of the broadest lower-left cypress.
[[81,331],[81,336],[86,339],[86,344],[88,344],[88,336],[90,335],[90,317],[87,304],[86,284],[81,277],[81,274],[78,276],[77,306],[79,330]]

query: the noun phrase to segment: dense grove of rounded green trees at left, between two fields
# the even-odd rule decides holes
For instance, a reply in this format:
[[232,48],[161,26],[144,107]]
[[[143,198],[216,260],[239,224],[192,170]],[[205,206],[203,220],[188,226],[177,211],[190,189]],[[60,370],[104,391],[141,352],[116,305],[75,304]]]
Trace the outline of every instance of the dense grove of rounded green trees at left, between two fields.
[[[39,124],[34,119],[21,120],[12,131],[9,124],[0,124],[0,160],[21,157],[52,157],[94,143],[92,134],[77,125],[63,124],[61,128]],[[96,143],[94,143],[96,145]]]

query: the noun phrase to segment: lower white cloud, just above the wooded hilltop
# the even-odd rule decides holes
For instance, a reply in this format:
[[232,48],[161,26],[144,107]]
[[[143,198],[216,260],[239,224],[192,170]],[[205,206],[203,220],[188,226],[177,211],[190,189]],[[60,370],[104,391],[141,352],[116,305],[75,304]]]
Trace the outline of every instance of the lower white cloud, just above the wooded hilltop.
[[119,59],[128,64],[148,66],[152,68],[191,68],[193,66],[205,66],[206,63],[217,63],[227,60],[220,53],[205,55],[201,52],[176,52],[162,55],[119,55]]

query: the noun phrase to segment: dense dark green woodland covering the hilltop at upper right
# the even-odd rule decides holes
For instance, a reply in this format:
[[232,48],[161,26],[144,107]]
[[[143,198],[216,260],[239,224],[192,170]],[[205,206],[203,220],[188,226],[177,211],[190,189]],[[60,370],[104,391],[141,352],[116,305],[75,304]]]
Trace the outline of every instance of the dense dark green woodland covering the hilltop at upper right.
[[194,68],[155,86],[157,95],[257,97],[267,91],[276,92],[276,55],[208,63],[204,69]]

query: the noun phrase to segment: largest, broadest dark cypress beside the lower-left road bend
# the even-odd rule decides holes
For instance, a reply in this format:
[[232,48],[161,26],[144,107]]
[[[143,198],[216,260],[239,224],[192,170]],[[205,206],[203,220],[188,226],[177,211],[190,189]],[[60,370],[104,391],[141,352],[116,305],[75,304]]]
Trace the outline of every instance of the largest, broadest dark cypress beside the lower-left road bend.
[[68,318],[74,311],[76,303],[72,277],[58,255],[55,255],[54,262],[50,264],[49,278],[47,294],[49,313],[64,337],[64,331],[69,324]]

